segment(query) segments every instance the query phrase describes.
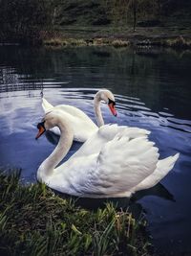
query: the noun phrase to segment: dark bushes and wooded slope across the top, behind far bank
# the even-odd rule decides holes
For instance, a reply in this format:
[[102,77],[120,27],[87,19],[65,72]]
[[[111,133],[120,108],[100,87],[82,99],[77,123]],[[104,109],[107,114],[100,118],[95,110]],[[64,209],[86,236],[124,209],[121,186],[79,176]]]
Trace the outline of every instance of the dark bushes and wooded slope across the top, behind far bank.
[[0,42],[41,43],[66,26],[184,28],[190,13],[181,0],[0,0]]

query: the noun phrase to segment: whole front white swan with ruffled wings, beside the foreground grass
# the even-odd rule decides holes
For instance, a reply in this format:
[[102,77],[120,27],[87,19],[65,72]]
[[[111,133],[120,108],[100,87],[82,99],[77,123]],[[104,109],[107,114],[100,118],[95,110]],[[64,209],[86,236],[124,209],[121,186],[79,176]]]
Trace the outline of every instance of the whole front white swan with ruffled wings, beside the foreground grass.
[[77,197],[130,197],[138,190],[156,185],[179,157],[177,153],[159,160],[158,148],[148,140],[148,130],[106,125],[68,161],[56,167],[70,150],[74,134],[67,117],[53,110],[38,124],[36,139],[54,126],[61,131],[59,143],[38,168],[37,179]]

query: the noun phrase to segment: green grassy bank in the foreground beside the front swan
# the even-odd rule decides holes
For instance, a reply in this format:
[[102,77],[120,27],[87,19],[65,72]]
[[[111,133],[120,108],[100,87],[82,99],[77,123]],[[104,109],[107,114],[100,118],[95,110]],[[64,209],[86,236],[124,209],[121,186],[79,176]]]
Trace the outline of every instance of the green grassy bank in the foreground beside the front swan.
[[150,255],[145,221],[111,203],[89,211],[19,180],[0,174],[0,255]]

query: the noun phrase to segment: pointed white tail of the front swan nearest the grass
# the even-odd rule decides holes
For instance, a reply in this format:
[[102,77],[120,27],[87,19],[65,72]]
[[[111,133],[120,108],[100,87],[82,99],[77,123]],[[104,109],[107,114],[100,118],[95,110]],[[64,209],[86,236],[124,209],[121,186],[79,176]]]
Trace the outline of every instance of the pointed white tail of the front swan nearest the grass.
[[157,163],[157,168],[154,171],[154,173],[143,179],[134,189],[134,192],[155,186],[165,175],[167,175],[173,169],[179,156],[180,153],[176,153],[173,156],[169,156],[162,160],[159,160],[159,162]]

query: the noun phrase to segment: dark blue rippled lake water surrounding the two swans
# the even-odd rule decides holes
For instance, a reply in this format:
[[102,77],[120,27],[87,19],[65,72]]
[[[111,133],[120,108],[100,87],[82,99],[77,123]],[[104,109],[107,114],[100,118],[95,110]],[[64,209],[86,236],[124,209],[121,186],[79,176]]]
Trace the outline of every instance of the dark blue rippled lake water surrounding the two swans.
[[[103,105],[105,123],[151,130],[161,158],[180,152],[174,169],[154,189],[135,195],[135,204],[146,213],[158,253],[191,255],[190,86],[191,52],[0,47],[0,166],[22,168],[24,182],[35,182],[39,164],[55,147],[46,136],[34,139],[42,95],[95,120],[97,89],[111,89],[118,116]],[[70,155],[79,147],[74,144]]]

